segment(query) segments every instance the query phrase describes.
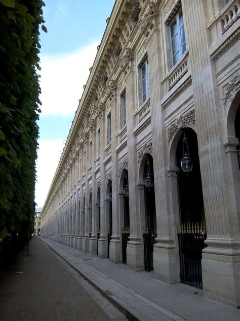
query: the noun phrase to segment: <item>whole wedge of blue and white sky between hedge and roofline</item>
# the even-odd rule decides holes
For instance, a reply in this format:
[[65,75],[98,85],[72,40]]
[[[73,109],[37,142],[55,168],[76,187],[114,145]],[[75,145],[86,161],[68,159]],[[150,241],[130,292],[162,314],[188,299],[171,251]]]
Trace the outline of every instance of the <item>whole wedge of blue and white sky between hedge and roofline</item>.
[[44,205],[114,0],[45,0],[35,203]]

